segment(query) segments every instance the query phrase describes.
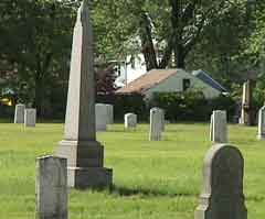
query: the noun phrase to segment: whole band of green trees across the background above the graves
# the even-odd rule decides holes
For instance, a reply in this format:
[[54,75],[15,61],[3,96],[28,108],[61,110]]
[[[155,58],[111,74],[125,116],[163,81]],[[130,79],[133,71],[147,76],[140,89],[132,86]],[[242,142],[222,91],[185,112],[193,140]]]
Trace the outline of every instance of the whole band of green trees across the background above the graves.
[[[246,78],[265,91],[263,0],[91,0],[98,94],[115,90],[110,61],[144,54],[147,69],[204,69],[241,97]],[[80,1],[0,2],[0,88],[42,117],[63,117]],[[261,103],[257,103],[261,105]]]

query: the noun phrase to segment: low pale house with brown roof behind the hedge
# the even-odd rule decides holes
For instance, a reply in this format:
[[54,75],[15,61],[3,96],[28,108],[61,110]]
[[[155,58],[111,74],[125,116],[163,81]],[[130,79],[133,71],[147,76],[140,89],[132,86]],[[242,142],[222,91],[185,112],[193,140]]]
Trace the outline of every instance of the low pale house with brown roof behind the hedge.
[[150,99],[153,92],[182,92],[186,90],[202,91],[206,99],[227,92],[203,70],[188,73],[183,69],[152,69],[116,92],[138,92]]

